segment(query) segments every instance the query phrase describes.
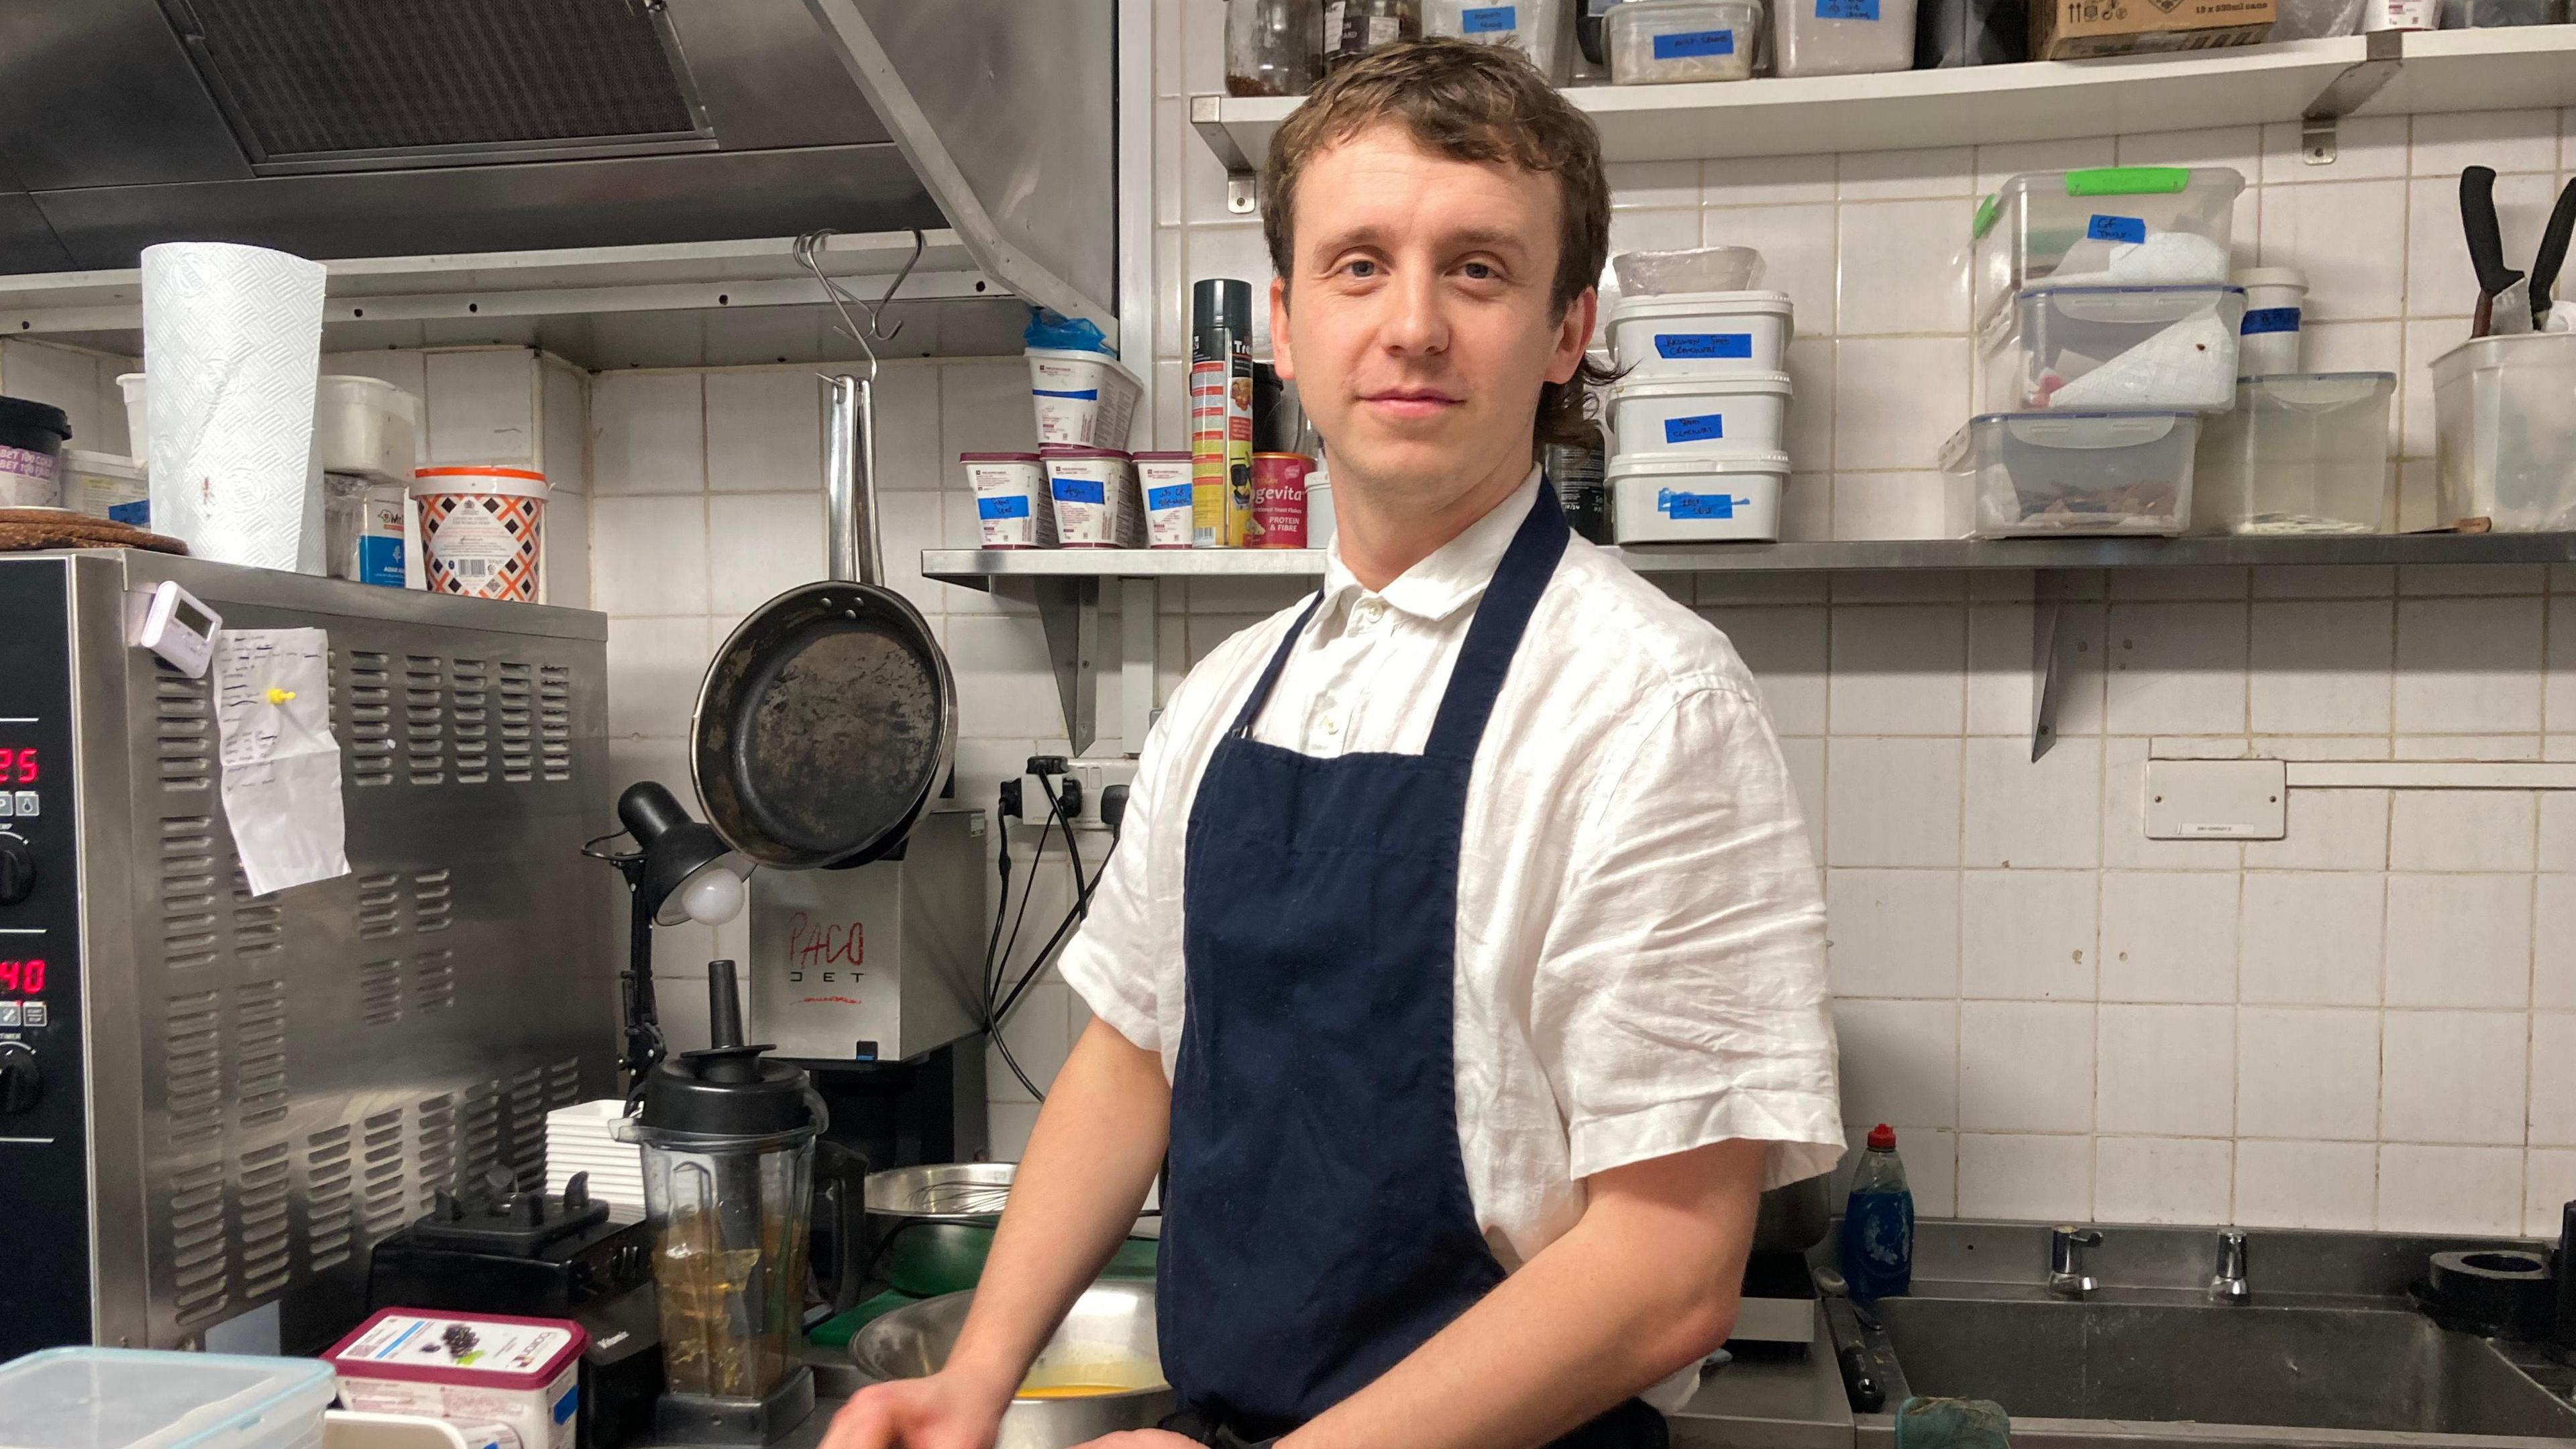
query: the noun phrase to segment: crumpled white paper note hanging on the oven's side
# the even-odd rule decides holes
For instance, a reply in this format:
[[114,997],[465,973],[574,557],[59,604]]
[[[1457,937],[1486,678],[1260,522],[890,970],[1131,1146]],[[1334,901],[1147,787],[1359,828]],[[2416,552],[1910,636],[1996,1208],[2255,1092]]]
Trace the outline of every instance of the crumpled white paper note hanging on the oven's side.
[[214,722],[224,815],[250,895],[348,874],[340,743],[330,732],[330,634],[224,629],[214,637]]

